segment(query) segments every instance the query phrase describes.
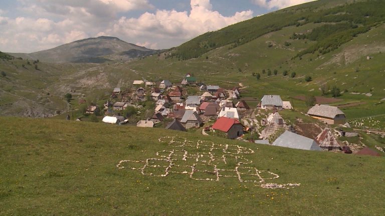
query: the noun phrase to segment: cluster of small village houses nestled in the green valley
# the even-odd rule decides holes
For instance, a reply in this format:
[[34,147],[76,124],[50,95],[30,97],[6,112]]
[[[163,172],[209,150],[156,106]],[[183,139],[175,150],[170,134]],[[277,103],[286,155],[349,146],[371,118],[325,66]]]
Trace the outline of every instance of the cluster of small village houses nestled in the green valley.
[[[190,73],[180,83],[134,80],[132,87],[124,91],[115,87],[104,107],[89,105],[86,114],[103,112],[105,123],[136,123],[138,127],[198,131],[257,144],[380,156],[363,143],[338,139],[358,133],[350,128],[345,114],[336,106],[315,104],[302,113],[316,123],[303,123],[300,118],[288,122],[280,112],[294,109],[290,101],[283,101],[280,95],[265,94],[252,108],[242,98],[242,89],[206,85]],[[142,119],[133,117],[138,114]],[[381,147],[376,148],[383,152]]]

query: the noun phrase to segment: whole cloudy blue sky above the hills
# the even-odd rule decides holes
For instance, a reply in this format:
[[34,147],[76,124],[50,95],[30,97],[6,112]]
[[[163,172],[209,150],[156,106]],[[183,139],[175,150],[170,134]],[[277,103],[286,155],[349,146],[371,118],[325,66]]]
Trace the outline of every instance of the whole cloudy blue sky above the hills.
[[0,51],[35,52],[116,36],[147,48],[312,0],[0,0]]

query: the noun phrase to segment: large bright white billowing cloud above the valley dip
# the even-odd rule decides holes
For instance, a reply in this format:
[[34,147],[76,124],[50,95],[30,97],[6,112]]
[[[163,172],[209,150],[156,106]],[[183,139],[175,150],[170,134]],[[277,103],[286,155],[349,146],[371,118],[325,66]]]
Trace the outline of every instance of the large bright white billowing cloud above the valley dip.
[[134,40],[144,38],[152,43],[156,41],[156,48],[169,48],[207,31],[218,30],[253,17],[251,10],[223,16],[212,10],[210,0],[191,0],[190,4],[189,13],[156,10],[155,13],[143,13],[138,18],[121,17],[105,33],[124,35],[125,38]]

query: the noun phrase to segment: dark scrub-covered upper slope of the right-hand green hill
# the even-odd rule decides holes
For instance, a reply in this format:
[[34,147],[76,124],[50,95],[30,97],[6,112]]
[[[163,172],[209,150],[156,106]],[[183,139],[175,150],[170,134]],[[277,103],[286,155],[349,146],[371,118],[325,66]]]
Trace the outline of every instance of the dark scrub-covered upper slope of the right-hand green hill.
[[[335,29],[322,27],[319,35],[311,37],[317,43],[303,50],[299,55],[317,50],[327,53],[349,41],[356,34],[366,32],[371,26],[382,22],[384,8],[385,3],[381,0],[362,2],[318,0],[255,17],[215,32],[205,33],[176,47],[171,56],[183,60],[199,57],[217,47],[229,44],[231,47],[236,47],[287,26],[299,26],[313,22],[344,24],[346,27],[339,26]],[[314,32],[312,33],[314,34]]]

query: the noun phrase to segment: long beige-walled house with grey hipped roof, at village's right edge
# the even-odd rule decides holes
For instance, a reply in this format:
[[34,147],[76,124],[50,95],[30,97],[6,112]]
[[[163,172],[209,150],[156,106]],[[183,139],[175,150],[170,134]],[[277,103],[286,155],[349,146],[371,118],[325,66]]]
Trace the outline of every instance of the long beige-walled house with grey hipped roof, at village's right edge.
[[307,114],[313,118],[322,120],[327,124],[345,123],[345,113],[343,113],[337,106],[315,104],[309,111],[307,111]]

